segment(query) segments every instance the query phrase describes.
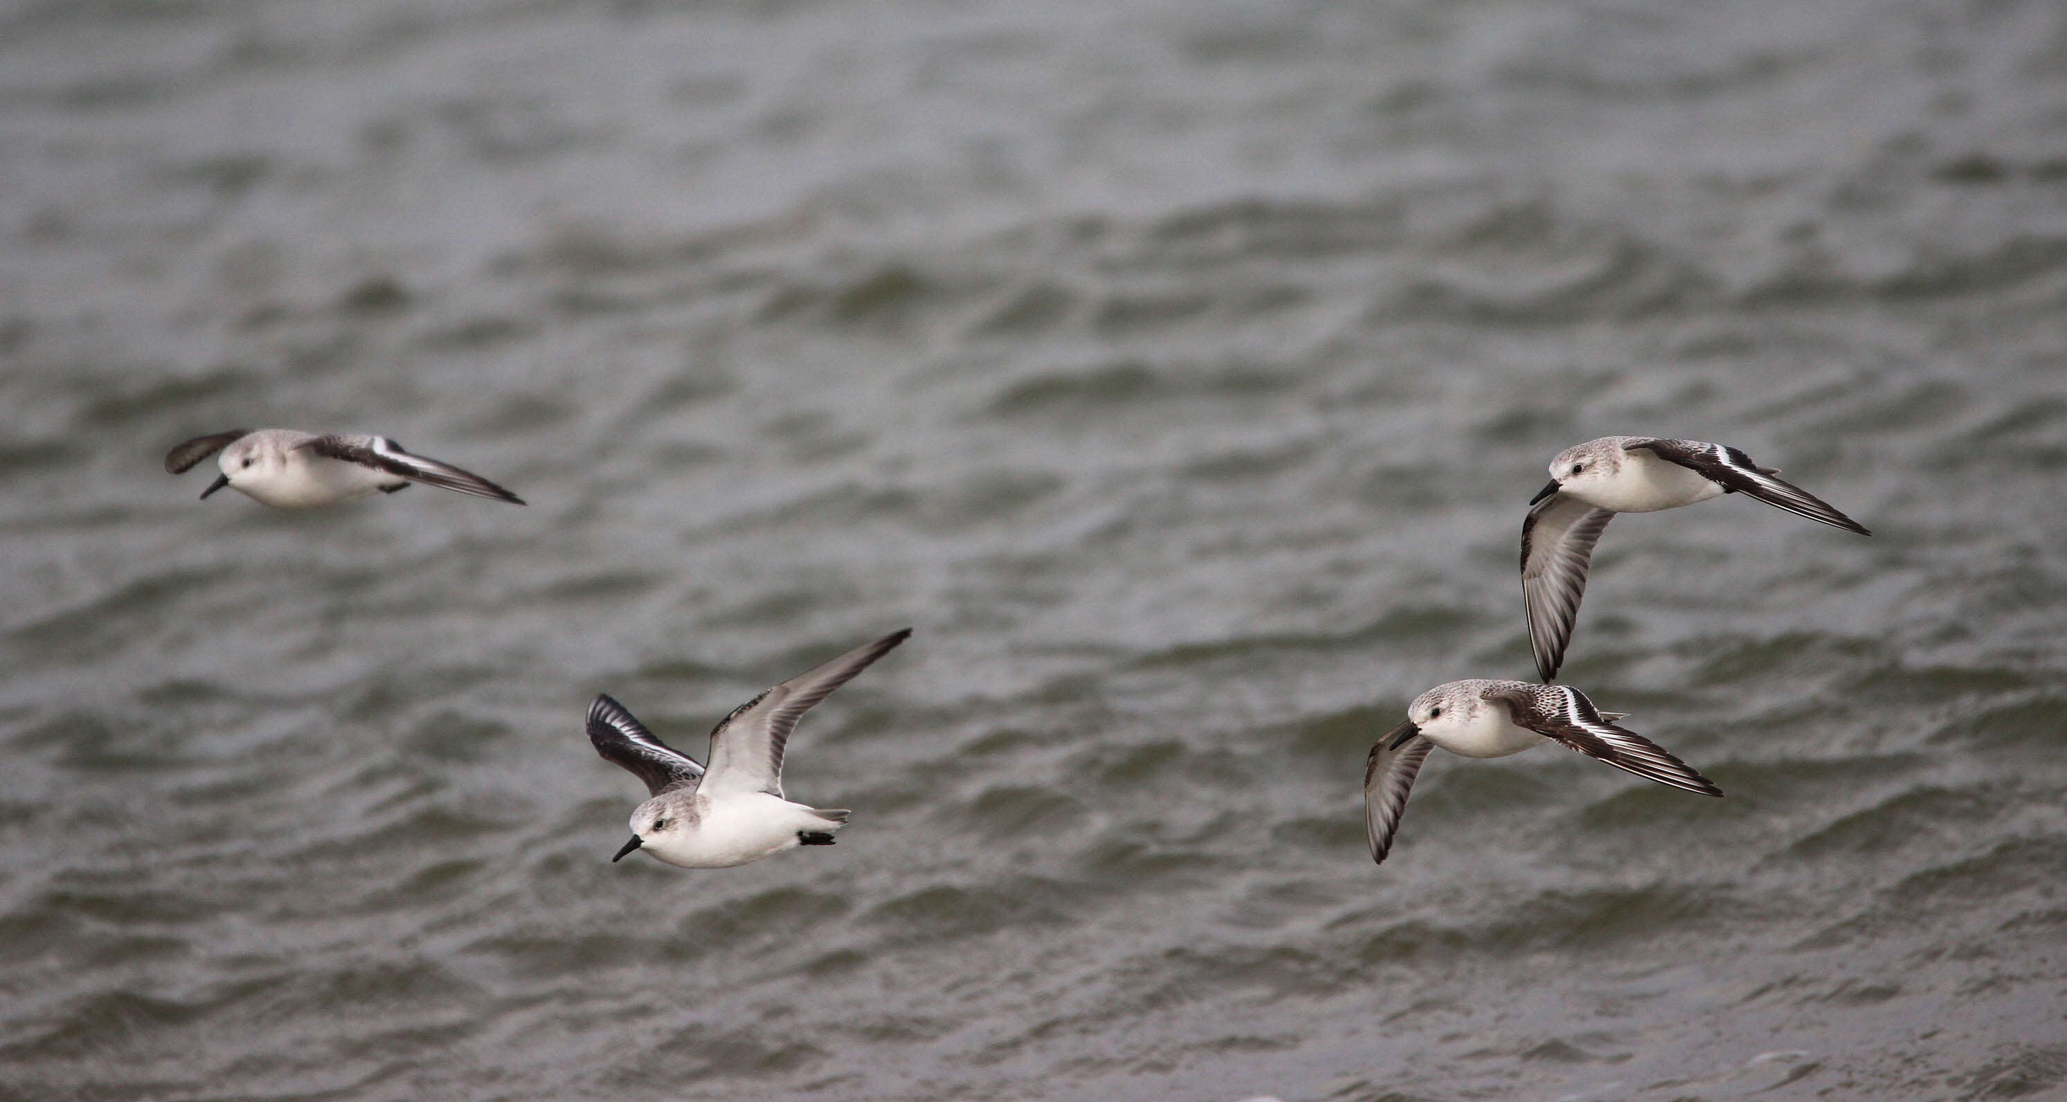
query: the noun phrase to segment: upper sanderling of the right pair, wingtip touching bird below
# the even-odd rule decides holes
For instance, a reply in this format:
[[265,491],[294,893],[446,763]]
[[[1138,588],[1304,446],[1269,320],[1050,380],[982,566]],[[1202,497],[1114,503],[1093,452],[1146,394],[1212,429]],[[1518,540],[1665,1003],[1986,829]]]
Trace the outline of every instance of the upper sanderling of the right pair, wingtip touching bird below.
[[1561,451],[1550,461],[1550,484],[1530,498],[1530,515],[1521,521],[1521,602],[1536,672],[1546,682],[1556,678],[1579,618],[1594,542],[1616,513],[1656,513],[1740,492],[1811,521],[1873,535],[1776,473],[1732,447],[1701,440],[1602,436]]

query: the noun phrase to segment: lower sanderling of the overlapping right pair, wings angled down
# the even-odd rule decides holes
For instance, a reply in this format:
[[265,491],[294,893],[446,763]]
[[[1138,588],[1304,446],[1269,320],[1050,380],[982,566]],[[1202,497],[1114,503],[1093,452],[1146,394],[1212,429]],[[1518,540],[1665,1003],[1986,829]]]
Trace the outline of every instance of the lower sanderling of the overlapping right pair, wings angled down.
[[1703,796],[1722,796],[1701,773],[1649,738],[1614,726],[1627,711],[1598,711],[1569,684],[1468,678],[1439,684],[1408,705],[1408,722],[1385,732],[1364,761],[1364,831],[1370,860],[1393,848],[1408,790],[1428,751],[1463,757],[1519,755],[1546,738],[1639,777]]

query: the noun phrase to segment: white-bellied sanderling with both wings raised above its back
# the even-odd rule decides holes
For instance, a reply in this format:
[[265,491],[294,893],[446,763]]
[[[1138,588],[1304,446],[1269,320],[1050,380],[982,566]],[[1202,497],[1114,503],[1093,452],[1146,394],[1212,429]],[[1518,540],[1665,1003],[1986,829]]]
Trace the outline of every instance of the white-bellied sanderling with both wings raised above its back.
[[732,709],[711,728],[709,769],[653,738],[618,701],[595,697],[589,742],[651,794],[633,810],[633,839],[610,860],[645,850],[680,868],[728,868],[798,846],[831,846],[850,813],[783,798],[783,744],[810,705],[909,635],[912,629],[893,631]]

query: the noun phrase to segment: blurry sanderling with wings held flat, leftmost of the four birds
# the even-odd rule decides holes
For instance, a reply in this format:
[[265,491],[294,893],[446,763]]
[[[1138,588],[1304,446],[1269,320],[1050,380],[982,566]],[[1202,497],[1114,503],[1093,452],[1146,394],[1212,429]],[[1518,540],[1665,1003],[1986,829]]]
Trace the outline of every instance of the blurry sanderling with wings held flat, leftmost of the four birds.
[[217,449],[223,453],[217,459],[223,473],[200,492],[203,498],[229,486],[265,504],[306,509],[364,498],[374,490],[393,494],[411,482],[424,482],[477,498],[523,504],[523,498],[494,482],[451,463],[411,455],[387,436],[232,428],[194,436],[172,449],[165,453],[165,471],[184,473]]

